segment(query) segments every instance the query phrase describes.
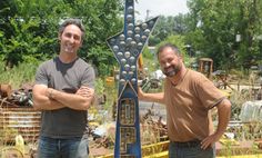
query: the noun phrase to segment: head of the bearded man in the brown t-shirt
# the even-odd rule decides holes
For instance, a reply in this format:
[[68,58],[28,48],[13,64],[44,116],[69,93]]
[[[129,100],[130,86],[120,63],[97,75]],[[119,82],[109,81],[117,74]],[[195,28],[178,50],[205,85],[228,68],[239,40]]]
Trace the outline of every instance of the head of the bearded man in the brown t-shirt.
[[174,77],[181,70],[183,60],[177,46],[165,43],[158,49],[157,56],[167,77]]

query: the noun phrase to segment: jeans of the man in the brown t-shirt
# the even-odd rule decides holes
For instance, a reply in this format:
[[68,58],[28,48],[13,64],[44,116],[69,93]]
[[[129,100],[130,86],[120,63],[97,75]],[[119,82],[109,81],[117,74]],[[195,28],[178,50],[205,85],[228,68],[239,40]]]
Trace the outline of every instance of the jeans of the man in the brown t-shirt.
[[215,148],[201,149],[200,141],[193,145],[170,142],[169,158],[215,158]]

